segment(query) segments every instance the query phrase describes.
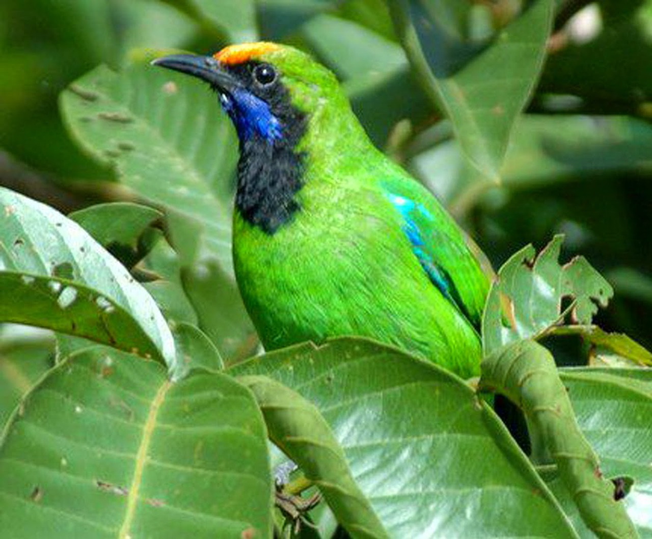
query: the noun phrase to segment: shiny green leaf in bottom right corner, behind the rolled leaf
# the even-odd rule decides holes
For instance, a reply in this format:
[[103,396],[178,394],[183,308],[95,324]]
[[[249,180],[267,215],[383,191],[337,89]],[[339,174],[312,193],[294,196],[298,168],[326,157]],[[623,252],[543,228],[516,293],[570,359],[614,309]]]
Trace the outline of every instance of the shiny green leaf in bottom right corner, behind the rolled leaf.
[[[569,368],[561,370],[578,424],[600,456],[604,476],[630,476],[634,484],[623,503],[642,538],[652,538],[652,370]],[[573,520],[572,502],[563,491],[559,499]]]

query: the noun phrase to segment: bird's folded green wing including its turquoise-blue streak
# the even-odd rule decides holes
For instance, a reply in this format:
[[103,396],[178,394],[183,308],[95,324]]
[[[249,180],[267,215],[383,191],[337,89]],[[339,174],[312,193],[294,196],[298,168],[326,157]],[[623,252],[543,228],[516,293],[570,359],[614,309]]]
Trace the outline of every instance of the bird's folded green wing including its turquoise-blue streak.
[[400,214],[413,253],[432,283],[479,329],[489,280],[462,230],[414,180],[384,181],[381,188]]

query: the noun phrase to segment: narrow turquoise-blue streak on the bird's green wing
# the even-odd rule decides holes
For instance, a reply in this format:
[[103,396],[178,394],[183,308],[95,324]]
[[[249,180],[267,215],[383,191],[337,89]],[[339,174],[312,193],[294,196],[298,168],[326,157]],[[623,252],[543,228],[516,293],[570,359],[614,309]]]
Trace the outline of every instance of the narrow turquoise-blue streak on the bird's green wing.
[[412,252],[415,254],[421,267],[424,269],[432,284],[442,293],[443,297],[456,306],[460,312],[468,317],[464,303],[453,284],[446,270],[437,267],[432,255],[428,254],[428,246],[424,240],[423,233],[415,222],[415,217],[425,218],[432,226],[435,219],[432,214],[422,205],[404,196],[387,193],[389,201],[400,212],[403,218],[403,231],[412,244]]

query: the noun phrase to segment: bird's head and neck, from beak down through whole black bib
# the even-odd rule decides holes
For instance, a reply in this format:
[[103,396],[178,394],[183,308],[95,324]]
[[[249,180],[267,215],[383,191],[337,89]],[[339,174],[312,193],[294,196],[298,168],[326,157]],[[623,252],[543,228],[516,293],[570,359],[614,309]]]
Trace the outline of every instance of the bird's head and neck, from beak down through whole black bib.
[[329,160],[366,137],[333,73],[295,48],[231,45],[213,56],[179,54],[154,61],[206,81],[240,139],[235,206],[273,234],[301,210],[299,191],[323,177]]

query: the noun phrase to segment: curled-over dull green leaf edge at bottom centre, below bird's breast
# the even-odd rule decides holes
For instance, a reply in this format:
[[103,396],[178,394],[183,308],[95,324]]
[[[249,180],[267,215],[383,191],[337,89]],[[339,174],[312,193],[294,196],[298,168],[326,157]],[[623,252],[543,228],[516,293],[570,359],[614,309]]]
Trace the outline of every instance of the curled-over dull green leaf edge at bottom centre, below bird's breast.
[[319,487],[349,534],[354,539],[389,539],[351,477],[344,452],[318,409],[265,376],[242,376],[238,381],[256,397],[270,439]]

